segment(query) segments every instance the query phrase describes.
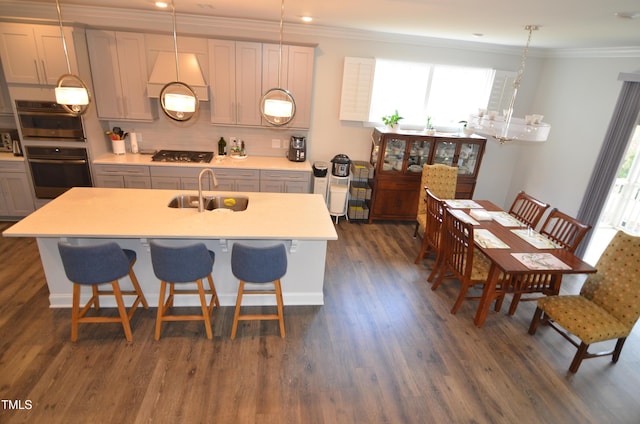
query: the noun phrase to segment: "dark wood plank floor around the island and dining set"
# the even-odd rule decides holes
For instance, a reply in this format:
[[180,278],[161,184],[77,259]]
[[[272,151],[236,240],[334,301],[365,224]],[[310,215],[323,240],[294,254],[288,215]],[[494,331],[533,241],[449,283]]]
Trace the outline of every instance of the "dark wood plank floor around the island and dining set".
[[136,313],[132,343],[111,324],[81,326],[71,343],[69,310],[48,308],[35,241],[2,238],[0,422],[640,422],[640,331],[618,364],[591,359],[569,375],[568,343],[527,334],[532,302],[480,329],[475,302],[451,315],[457,282],[430,290],[412,232],[340,222],[325,305],[285,307],[284,340],[275,322],[245,323],[230,340],[223,307],[213,341],[199,323],[169,323],[155,342],[150,309]]

